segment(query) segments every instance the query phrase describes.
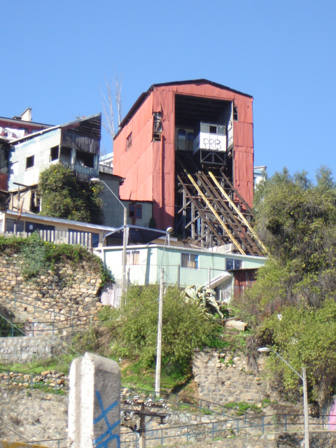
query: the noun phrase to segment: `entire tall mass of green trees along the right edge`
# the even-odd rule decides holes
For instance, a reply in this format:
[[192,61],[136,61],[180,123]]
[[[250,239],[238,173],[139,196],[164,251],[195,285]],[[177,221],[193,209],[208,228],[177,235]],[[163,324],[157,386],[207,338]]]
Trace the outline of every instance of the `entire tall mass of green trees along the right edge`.
[[[255,328],[257,346],[273,346],[299,371],[307,367],[310,397],[336,388],[336,186],[321,167],[316,182],[287,169],[260,183],[255,229],[270,252],[258,279],[236,301]],[[250,347],[250,349],[253,347]],[[297,378],[270,357],[285,391]]]

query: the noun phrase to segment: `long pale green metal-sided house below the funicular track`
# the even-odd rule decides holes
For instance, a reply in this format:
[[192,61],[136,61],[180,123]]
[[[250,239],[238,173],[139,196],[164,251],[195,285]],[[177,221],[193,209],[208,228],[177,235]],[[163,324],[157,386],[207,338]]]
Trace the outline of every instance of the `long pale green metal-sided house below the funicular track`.
[[[95,249],[106,267],[116,279],[122,277],[123,249],[120,246]],[[233,276],[223,274],[238,270],[258,269],[265,264],[265,257],[218,253],[193,248],[181,248],[159,244],[127,246],[127,277],[131,284],[148,285],[159,283],[160,269],[164,269],[167,285],[210,285],[219,277],[233,287]],[[220,282],[221,283],[221,282]]]

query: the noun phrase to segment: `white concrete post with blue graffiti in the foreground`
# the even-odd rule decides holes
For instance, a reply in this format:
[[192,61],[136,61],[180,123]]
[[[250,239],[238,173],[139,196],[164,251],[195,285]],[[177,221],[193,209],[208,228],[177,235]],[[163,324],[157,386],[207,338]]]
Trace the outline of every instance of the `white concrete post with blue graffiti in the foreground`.
[[68,437],[71,448],[120,447],[120,369],[92,353],[71,363]]

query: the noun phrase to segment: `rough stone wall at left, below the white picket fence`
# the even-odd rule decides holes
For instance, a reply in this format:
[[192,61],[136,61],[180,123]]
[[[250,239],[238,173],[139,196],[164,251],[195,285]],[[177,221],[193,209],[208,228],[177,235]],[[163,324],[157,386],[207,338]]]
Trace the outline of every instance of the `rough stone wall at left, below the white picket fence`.
[[34,315],[33,320],[55,321],[61,328],[97,319],[101,278],[89,262],[76,267],[63,262],[37,279],[25,279],[21,263],[18,255],[0,256],[1,301],[15,315]]

